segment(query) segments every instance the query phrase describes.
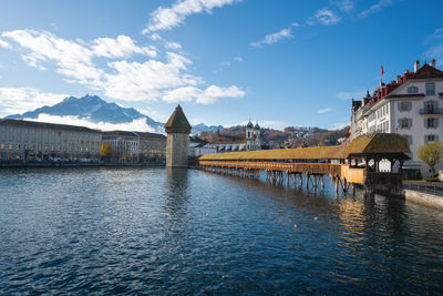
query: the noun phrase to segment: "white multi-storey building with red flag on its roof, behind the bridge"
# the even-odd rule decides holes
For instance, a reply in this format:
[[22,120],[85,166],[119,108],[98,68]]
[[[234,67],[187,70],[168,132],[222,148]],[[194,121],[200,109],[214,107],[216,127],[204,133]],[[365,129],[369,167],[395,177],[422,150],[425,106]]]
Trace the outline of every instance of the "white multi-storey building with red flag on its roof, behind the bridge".
[[380,132],[406,136],[412,152],[404,164],[406,174],[420,170],[423,176],[430,175],[416,151],[423,144],[443,140],[442,126],[443,72],[435,68],[435,60],[421,68],[416,61],[413,73],[406,71],[389,84],[380,83],[372,96],[368,92],[361,101],[352,102],[351,140]]

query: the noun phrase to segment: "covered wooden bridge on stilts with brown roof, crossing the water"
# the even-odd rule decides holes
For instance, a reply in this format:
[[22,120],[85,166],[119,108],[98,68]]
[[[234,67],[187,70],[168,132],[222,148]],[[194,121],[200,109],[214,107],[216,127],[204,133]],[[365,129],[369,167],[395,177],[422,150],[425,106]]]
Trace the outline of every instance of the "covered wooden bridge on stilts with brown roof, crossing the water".
[[[402,186],[401,170],[409,160],[408,141],[399,134],[362,135],[348,145],[305,149],[264,150],[206,154],[199,157],[202,170],[215,173],[258,177],[266,172],[269,182],[286,182],[306,187],[324,187],[324,175],[346,193],[350,184],[361,184],[367,192],[381,188],[396,192]],[[380,162],[388,160],[391,170],[381,172]]]

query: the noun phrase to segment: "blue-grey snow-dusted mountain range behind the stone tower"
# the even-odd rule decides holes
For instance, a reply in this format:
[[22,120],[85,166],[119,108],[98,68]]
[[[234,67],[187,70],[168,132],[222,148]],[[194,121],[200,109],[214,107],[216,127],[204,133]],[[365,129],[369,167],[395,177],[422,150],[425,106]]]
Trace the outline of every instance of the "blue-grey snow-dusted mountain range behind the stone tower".
[[[49,114],[54,116],[78,116],[79,119],[86,119],[91,122],[106,122],[106,123],[127,123],[134,120],[144,119],[146,124],[152,126],[156,132],[164,132],[164,123],[157,122],[147,115],[140,113],[134,108],[123,108],[116,103],[109,103],[97,95],[84,95],[82,98],[69,96],[60,103],[52,106],[44,105],[29,111],[23,114],[13,114],[7,116],[7,119],[38,119],[40,114]],[[217,131],[223,130],[223,126],[207,126],[206,124],[197,124],[193,126],[192,133],[198,134],[203,131]]]

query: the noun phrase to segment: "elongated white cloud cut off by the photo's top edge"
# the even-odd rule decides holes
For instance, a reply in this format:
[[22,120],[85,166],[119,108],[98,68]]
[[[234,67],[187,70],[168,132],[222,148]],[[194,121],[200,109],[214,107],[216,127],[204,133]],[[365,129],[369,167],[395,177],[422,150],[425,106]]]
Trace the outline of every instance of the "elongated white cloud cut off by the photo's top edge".
[[212,13],[214,8],[222,8],[241,0],[177,0],[171,8],[157,8],[151,13],[151,20],[142,33],[171,30],[184,23],[194,13]]

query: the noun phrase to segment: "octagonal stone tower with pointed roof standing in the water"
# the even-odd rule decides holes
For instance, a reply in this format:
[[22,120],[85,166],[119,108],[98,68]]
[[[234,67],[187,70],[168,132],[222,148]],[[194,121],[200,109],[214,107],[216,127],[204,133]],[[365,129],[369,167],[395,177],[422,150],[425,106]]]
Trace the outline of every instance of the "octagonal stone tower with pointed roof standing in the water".
[[177,105],[166,122],[165,131],[167,133],[166,166],[187,167],[190,124],[181,105]]

